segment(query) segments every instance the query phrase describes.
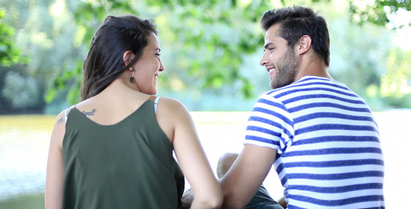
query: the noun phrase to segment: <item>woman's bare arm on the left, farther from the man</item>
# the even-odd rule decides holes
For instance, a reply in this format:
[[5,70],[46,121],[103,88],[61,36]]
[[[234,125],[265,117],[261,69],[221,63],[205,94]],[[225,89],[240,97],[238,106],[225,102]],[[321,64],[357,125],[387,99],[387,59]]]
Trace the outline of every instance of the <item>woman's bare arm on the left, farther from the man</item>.
[[64,113],[61,112],[54,123],[47,160],[45,208],[61,208],[63,199],[64,162],[61,150],[65,132]]

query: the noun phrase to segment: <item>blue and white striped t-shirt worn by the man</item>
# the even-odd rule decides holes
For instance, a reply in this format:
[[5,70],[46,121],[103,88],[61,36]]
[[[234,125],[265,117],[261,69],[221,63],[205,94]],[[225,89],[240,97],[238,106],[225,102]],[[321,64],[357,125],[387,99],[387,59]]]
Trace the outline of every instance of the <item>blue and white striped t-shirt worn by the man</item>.
[[344,84],[322,77],[268,91],[247,122],[245,144],[277,149],[288,208],[385,208],[378,125]]

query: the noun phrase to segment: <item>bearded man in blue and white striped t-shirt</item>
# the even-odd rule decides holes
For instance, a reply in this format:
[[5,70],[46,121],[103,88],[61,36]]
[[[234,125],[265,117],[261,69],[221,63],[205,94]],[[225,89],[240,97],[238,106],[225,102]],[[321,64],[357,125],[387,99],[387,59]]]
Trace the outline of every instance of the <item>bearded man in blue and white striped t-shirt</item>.
[[287,208],[384,208],[384,162],[368,105],[327,72],[329,35],[311,8],[267,10],[258,98],[244,148],[220,180],[223,208],[244,208],[272,164]]

